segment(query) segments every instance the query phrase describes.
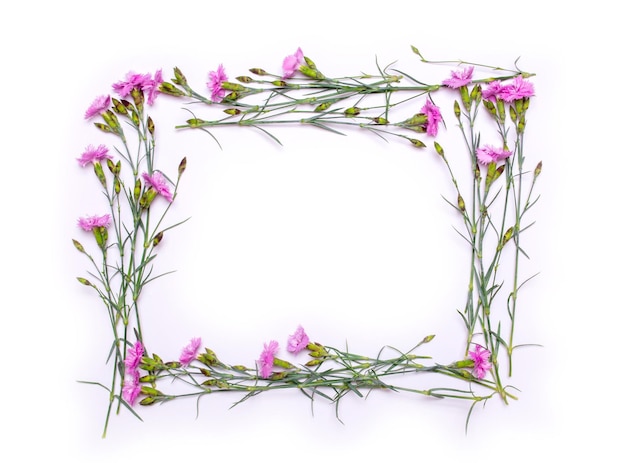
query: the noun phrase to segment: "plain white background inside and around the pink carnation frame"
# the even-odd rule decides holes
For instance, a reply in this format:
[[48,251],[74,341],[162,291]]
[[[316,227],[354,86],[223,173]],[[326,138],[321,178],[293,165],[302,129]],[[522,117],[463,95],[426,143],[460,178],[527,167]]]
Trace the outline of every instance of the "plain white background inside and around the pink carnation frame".
[[[0,28],[0,442],[12,461],[606,461],[615,454],[623,434],[624,149],[612,51],[621,37],[608,2],[591,10],[570,2],[567,12],[535,1],[39,3],[8,7]],[[75,162],[87,144],[103,142],[82,120],[87,105],[131,69],[163,68],[171,77],[177,65],[201,88],[219,63],[232,77],[253,66],[277,71],[298,46],[337,72],[373,71],[375,57],[407,70],[416,61],[410,45],[433,59],[509,65],[521,56],[520,65],[538,74],[528,156],[544,164],[530,234],[530,268],[541,273],[522,298],[519,332],[544,347],[520,351],[512,383],[521,400],[490,402],[466,436],[464,407],[408,395],[349,398],[340,406],[343,424],[322,401],[312,417],[296,393],[231,410],[233,398],[210,397],[197,419],[194,403],[171,403],[145,410],[144,422],[114,417],[101,439],[106,397],[77,380],[107,377],[106,320],[75,281],[86,262],[71,245],[81,236],[76,217],[98,212],[95,182]],[[186,118],[176,102],[157,102],[171,110],[159,129]],[[219,151],[200,135],[164,136],[160,152],[170,172],[188,156],[174,213],[192,220],[168,236],[159,256],[177,273],[146,301],[156,307],[147,331],[159,355],[174,358],[202,336],[225,361],[251,362],[263,342],[284,344],[299,323],[316,340],[347,341],[355,351],[407,348],[435,333],[434,352],[450,354],[459,332],[450,307],[464,275],[455,266],[466,265],[433,153],[311,130],[281,132],[281,149],[258,134],[224,133]]]

